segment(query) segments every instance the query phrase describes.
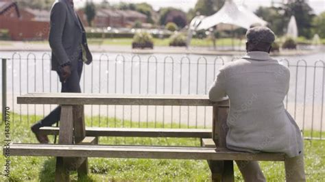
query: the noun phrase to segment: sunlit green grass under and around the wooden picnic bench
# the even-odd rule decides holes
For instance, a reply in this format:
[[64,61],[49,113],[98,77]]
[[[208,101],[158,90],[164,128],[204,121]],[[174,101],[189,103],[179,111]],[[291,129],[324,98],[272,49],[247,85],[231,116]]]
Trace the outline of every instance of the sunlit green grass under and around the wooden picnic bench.
[[[36,143],[36,139],[29,125],[34,117],[14,116],[11,123],[12,142]],[[40,116],[36,117],[36,120]],[[101,127],[163,127],[161,122],[130,122],[114,118],[100,118]],[[86,118],[87,126],[99,126],[99,118]],[[171,127],[171,125],[165,125]],[[177,124],[173,127],[179,127]],[[181,126],[187,128],[186,126]],[[4,125],[1,125],[3,131]],[[325,134],[325,133],[322,133]],[[316,135],[316,134],[314,134]],[[0,141],[3,145],[4,135],[1,132]],[[50,138],[53,139],[52,137]],[[193,138],[100,138],[101,144],[141,144],[141,145],[169,145],[169,146],[200,146],[200,141]],[[319,140],[305,140],[305,170],[308,181],[322,181],[325,179],[325,142]],[[0,157],[0,166],[3,166],[4,157]],[[0,171],[0,181],[53,181],[56,159],[54,157],[11,157],[11,177],[7,179]],[[285,170],[282,162],[261,162],[261,168],[267,181],[285,181]],[[210,181],[210,171],[203,160],[167,160],[167,159],[106,159],[90,158],[90,174],[82,181]],[[234,168],[235,181],[243,181],[237,166]],[[75,172],[71,175],[72,181],[77,181]]]

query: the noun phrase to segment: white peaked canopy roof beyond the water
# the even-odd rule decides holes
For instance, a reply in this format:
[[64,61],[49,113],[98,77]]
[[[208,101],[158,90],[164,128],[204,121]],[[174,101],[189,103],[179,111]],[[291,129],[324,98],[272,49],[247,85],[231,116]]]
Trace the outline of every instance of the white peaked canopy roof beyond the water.
[[197,27],[197,30],[209,29],[220,23],[235,25],[245,29],[249,29],[250,26],[254,24],[267,25],[266,21],[263,21],[263,19],[256,16],[243,5],[237,6],[234,1],[228,0],[219,12],[204,18]]

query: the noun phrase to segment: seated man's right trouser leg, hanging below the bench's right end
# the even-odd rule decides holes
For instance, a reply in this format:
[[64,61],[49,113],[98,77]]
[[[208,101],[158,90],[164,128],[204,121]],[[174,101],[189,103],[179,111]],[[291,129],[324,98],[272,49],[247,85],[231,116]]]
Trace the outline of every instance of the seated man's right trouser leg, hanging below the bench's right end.
[[304,155],[285,159],[285,179],[288,182],[306,181],[304,174]]

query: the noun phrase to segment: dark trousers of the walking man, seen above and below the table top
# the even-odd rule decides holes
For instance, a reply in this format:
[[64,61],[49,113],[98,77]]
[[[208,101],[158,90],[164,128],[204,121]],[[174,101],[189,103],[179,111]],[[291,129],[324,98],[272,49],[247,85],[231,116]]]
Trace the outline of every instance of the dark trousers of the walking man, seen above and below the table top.
[[[60,77],[60,82],[62,84],[61,92],[72,92],[72,93],[80,93],[80,78],[82,75],[82,67],[83,62],[80,61],[78,63],[77,69],[74,69],[71,71],[70,77],[67,79],[67,81],[64,83],[61,77],[61,73],[58,71],[58,75]],[[56,109],[54,109],[49,115],[47,115],[43,120],[40,120],[38,123],[36,123],[37,127],[51,127],[54,123],[58,122],[60,120],[61,115],[61,107],[58,106]]]

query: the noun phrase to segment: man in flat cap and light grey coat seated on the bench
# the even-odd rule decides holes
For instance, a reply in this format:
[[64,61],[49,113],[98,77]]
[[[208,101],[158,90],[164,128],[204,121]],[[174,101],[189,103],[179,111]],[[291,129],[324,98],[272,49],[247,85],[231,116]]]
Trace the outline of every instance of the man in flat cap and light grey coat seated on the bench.
[[[267,27],[246,33],[247,54],[219,70],[209,98],[230,99],[227,148],[234,151],[285,153],[287,181],[306,181],[300,129],[285,110],[289,69],[269,56],[275,36]],[[265,181],[257,161],[236,161],[245,181]]]

